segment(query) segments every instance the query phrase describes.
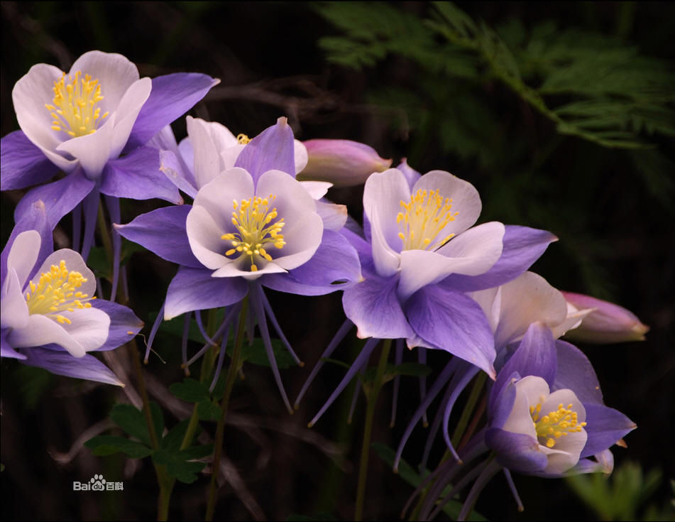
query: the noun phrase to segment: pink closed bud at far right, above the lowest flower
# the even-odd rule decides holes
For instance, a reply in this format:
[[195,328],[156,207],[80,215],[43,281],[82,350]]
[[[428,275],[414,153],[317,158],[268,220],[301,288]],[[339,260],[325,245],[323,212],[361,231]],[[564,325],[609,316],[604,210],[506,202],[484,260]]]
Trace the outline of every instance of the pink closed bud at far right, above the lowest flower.
[[576,308],[593,308],[578,328],[565,334],[570,339],[596,344],[643,341],[644,334],[649,332],[649,327],[630,310],[590,295],[571,292],[563,292],[563,295]]

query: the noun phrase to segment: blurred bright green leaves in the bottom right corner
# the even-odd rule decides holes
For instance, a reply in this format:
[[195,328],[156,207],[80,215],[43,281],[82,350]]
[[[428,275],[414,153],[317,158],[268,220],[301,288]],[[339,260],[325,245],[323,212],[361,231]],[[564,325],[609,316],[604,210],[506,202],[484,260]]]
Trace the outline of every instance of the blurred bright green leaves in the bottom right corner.
[[[615,469],[611,477],[589,474],[565,480],[602,520],[611,521],[637,520],[638,509],[658,489],[661,479],[659,469],[651,469],[644,476],[640,464],[628,461]],[[656,515],[654,509],[651,513],[652,516]],[[645,519],[651,519],[652,516]]]

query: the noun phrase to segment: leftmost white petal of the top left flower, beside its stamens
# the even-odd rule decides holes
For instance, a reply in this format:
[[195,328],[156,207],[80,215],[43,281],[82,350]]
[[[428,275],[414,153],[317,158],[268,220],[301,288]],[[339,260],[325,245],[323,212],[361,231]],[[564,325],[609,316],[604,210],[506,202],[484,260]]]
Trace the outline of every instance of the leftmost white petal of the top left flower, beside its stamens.
[[53,103],[54,82],[60,80],[61,76],[62,71],[53,65],[33,65],[14,85],[12,102],[18,125],[28,139],[55,165],[70,172],[77,167],[77,161],[56,153],[57,146],[68,136],[52,129],[53,118],[45,108],[45,104]]

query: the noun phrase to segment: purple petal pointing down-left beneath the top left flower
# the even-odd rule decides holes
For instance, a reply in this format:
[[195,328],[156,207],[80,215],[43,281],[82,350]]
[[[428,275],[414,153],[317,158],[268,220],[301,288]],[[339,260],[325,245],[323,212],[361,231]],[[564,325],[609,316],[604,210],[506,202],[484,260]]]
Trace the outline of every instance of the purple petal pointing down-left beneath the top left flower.
[[94,182],[84,177],[81,168],[47,185],[35,187],[23,196],[14,210],[14,222],[18,223],[31,207],[42,200],[47,211],[47,222],[52,229],[56,227],[61,218],[73,210],[75,206],[94,188]]

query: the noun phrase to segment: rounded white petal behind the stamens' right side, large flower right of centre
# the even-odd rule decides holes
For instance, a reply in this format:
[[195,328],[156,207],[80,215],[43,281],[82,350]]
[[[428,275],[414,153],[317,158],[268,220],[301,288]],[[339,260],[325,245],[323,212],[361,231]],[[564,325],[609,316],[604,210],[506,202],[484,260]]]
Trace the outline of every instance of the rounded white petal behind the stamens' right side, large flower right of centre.
[[443,238],[449,234],[459,234],[464,232],[468,227],[471,227],[481,215],[481,197],[471,183],[461,180],[455,175],[452,175],[445,170],[432,170],[424,174],[415,185],[413,185],[412,194],[417,190],[438,190],[439,195],[445,199],[449,197],[452,199],[452,210],[459,212],[454,221],[449,222],[444,229],[439,232],[439,238]]

